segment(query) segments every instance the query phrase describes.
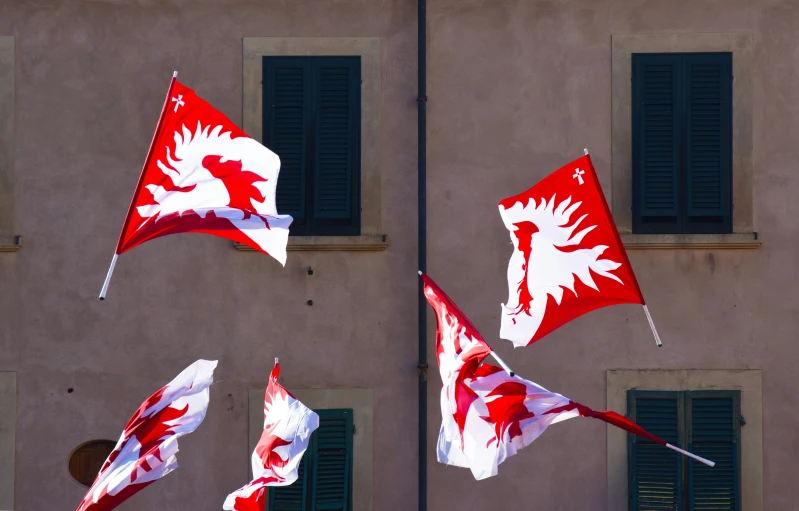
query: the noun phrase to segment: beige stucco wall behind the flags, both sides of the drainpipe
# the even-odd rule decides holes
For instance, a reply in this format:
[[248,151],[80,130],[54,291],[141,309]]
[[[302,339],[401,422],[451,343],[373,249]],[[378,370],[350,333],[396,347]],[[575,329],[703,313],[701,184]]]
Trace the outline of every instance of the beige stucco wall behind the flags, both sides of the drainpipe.
[[[265,384],[275,356],[288,388],[372,389],[373,508],[413,509],[415,2],[78,0],[0,12],[0,35],[14,38],[13,219],[25,236],[23,250],[0,254],[0,371],[16,372],[18,387],[14,509],[77,504],[71,450],[117,438],[146,396],[200,357],[219,359],[218,383],[204,424],[181,440],[181,468],[120,509],[218,508],[209,503],[247,478],[248,391]],[[799,5],[428,0],[428,14],[430,275],[517,372],[594,408],[607,404],[611,368],[761,370],[763,507],[792,509]],[[630,253],[661,349],[640,307],[617,306],[513,351],[497,339],[510,255],[497,201],[588,147],[612,202],[612,37],[651,33],[750,37],[762,245]],[[170,73],[241,123],[245,37],[380,40],[380,231],[390,246],[291,252],[281,268],[226,240],[171,236],[124,254],[99,302]],[[440,381],[428,374],[430,510],[603,508],[603,424],[555,425],[476,483],[435,461]]]

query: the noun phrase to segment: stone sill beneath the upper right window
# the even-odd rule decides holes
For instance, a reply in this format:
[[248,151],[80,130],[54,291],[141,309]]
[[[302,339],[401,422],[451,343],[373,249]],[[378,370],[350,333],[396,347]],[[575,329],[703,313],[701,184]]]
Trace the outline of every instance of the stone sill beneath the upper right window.
[[760,247],[756,232],[733,234],[622,234],[627,250],[711,250]]

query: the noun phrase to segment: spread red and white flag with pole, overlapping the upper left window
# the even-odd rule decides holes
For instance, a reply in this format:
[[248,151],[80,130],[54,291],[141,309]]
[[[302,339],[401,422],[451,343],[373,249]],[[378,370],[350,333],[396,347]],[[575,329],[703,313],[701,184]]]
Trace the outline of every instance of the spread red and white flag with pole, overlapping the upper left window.
[[292,218],[277,212],[279,171],[275,153],[173,77],[100,297],[118,255],[169,234],[221,236],[285,265]]

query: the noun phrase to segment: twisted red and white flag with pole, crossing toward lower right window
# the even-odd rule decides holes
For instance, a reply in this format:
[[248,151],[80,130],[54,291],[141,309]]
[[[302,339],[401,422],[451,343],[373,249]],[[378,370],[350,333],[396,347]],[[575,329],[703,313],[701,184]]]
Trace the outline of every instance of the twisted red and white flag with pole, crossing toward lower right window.
[[469,468],[475,479],[497,474],[500,463],[556,422],[593,417],[691,456],[615,412],[597,412],[505,370],[483,363],[491,348],[463,312],[426,275],[424,293],[436,313],[441,373],[438,461]]

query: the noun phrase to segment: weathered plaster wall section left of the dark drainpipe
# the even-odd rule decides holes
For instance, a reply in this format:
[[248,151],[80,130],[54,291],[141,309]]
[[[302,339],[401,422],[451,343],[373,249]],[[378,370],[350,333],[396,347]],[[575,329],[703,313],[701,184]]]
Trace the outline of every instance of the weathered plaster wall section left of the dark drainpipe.
[[[16,45],[15,227],[26,243],[0,254],[0,371],[17,372],[19,393],[14,509],[76,506],[85,488],[67,472],[71,450],[116,439],[144,398],[201,357],[219,360],[218,383],[205,422],[180,442],[180,469],[120,509],[220,509],[246,481],[248,389],[266,383],[275,356],[289,388],[372,389],[374,509],[407,509],[415,14],[393,0],[0,3],[0,35]],[[291,252],[282,268],[220,238],[166,237],[120,257],[98,301],[172,70],[241,123],[242,39],[267,36],[380,38],[392,245]]]

